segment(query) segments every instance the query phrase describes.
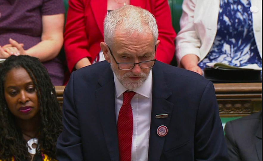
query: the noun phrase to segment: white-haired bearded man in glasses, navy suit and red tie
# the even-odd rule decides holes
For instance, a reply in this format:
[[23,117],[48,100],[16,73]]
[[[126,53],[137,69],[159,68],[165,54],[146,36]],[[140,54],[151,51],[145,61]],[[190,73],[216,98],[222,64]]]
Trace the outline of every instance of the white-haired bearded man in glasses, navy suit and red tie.
[[121,7],[104,30],[106,61],[66,86],[58,161],[228,161],[213,84],[156,61],[152,14]]

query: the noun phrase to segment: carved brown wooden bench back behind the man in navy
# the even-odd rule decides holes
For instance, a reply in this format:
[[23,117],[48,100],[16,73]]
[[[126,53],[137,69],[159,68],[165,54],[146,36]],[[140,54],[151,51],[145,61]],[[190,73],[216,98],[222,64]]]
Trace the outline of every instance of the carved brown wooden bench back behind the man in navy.
[[[247,116],[262,110],[262,83],[214,84],[220,117]],[[65,86],[56,86],[57,98],[63,104]]]

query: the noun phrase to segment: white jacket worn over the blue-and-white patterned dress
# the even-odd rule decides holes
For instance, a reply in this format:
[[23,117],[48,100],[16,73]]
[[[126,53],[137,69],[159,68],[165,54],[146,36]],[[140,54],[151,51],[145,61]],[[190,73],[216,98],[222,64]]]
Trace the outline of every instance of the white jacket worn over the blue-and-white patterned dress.
[[[253,30],[262,58],[262,0],[250,0],[258,12],[253,13]],[[187,54],[194,54],[202,61],[211,50],[217,35],[220,0],[184,0],[181,31],[176,38],[178,64]]]

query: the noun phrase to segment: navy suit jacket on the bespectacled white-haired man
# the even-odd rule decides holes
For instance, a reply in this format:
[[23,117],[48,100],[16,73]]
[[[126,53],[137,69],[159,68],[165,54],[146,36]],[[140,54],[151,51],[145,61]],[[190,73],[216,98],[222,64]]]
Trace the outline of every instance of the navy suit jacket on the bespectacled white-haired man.
[[[213,84],[161,62],[152,69],[148,161],[228,161]],[[168,118],[156,119],[157,114]],[[59,161],[119,161],[115,84],[106,61],[73,72],[64,92]],[[168,127],[165,137],[157,128]]]

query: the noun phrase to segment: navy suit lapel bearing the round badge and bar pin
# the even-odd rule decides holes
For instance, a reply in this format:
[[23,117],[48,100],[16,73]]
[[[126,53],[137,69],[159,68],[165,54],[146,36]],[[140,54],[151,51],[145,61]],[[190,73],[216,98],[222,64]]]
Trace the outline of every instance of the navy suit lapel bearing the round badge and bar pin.
[[[159,137],[157,129],[159,126],[164,125],[168,128],[173,111],[173,103],[169,102],[167,98],[172,95],[169,87],[165,81],[165,75],[158,67],[158,62],[152,70],[153,74],[153,86],[152,86],[152,118],[150,129],[150,145],[149,145],[149,157],[148,160],[159,160],[164,148],[164,142],[166,137]],[[168,114],[168,118],[156,119],[158,114]]]

